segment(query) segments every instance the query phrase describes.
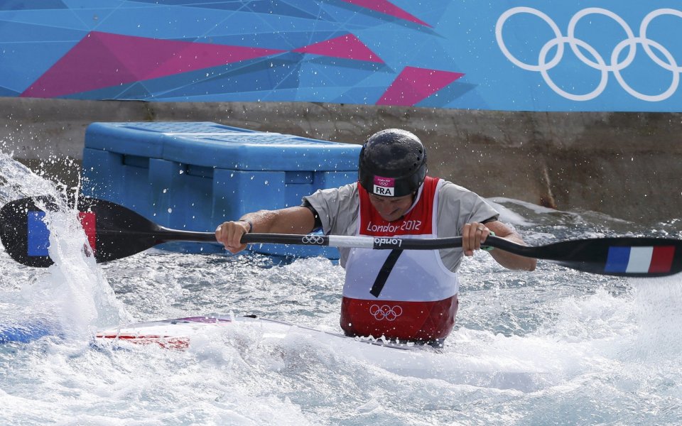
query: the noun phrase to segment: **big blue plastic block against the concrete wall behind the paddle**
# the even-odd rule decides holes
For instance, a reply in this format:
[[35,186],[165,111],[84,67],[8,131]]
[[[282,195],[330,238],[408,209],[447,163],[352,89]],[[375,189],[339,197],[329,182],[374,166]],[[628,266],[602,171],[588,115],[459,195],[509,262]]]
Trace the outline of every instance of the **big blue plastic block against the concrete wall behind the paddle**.
[[[357,180],[360,146],[209,122],[93,123],[85,133],[82,192],[173,229],[213,231],[260,209],[301,204],[315,190]],[[173,244],[222,251],[218,244]],[[256,245],[278,256],[336,249]]]

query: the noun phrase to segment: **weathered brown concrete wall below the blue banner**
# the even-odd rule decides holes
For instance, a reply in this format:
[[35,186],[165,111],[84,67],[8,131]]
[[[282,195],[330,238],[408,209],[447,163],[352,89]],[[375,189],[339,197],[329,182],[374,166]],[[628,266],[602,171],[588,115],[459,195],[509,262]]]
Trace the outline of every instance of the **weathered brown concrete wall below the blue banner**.
[[77,180],[77,167],[45,160],[80,160],[85,128],[93,121],[214,121],[348,143],[400,127],[422,138],[431,175],[485,197],[643,223],[681,217],[681,113],[23,98],[0,98],[0,111],[3,151],[70,183]]

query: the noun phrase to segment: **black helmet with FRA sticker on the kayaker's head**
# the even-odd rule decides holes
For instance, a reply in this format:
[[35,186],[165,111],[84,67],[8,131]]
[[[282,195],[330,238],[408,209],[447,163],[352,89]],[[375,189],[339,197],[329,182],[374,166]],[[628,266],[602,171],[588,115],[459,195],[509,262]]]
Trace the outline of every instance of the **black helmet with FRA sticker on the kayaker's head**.
[[424,178],[426,150],[408,131],[379,131],[360,150],[358,181],[370,194],[404,197],[416,192]]

